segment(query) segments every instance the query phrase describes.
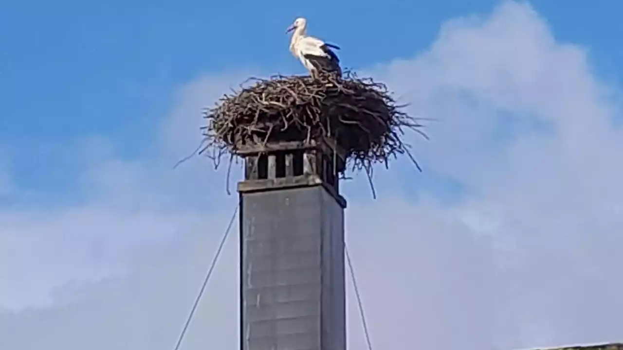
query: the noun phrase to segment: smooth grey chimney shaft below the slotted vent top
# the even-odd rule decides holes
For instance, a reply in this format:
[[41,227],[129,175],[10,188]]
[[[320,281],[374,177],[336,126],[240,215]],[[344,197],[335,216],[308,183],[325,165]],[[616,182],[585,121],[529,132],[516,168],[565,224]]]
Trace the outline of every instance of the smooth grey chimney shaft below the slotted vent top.
[[343,207],[323,186],[240,194],[243,350],[345,350]]

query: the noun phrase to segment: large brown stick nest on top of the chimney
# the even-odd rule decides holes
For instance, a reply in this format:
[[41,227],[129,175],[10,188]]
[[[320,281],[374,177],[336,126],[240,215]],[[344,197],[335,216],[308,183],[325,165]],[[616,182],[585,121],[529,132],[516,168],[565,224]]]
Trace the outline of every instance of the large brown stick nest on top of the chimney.
[[215,161],[242,145],[330,138],[353,170],[370,174],[374,163],[388,166],[398,154],[407,154],[419,169],[401,138],[406,129],[426,137],[422,125],[401,110],[404,105],[396,104],[383,83],[351,72],[247,82],[252,84],[240,85],[239,92],[224,95],[206,111],[201,153]]

